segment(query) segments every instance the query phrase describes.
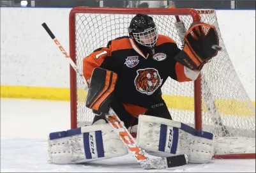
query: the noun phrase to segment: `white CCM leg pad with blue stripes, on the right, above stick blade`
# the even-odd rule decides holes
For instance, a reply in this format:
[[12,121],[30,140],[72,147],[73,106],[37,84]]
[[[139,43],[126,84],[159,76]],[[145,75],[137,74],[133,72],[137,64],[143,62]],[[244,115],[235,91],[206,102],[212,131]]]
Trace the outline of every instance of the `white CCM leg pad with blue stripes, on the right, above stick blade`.
[[208,163],[214,154],[213,133],[154,116],[139,116],[137,142],[154,156],[186,154],[188,163]]

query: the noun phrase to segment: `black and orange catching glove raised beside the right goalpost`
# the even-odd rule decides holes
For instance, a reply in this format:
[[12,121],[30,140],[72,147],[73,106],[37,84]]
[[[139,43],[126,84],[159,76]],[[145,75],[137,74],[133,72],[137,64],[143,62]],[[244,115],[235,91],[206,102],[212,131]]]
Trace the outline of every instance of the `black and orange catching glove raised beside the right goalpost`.
[[174,59],[191,70],[201,70],[202,66],[218,54],[219,45],[215,26],[193,22],[184,36],[184,47]]

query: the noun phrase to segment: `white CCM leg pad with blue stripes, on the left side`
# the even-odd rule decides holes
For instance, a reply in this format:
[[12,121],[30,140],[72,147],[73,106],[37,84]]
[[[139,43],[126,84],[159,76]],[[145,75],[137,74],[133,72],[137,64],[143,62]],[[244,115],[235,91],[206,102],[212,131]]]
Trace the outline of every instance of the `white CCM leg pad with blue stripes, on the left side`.
[[128,154],[110,124],[95,124],[49,134],[49,161],[84,163]]

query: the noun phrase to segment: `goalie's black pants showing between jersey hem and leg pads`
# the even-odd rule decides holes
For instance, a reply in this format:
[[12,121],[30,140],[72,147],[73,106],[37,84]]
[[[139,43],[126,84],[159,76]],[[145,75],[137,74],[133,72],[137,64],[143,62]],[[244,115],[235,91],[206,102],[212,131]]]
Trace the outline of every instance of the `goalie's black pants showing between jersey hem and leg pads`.
[[[137,117],[132,116],[131,112],[128,112],[124,108],[124,105],[121,102],[112,102],[111,107],[114,110],[114,112],[116,112],[119,119],[124,122],[124,126],[126,126],[126,128],[138,124],[138,116],[139,115],[137,115]],[[147,109],[146,112],[144,112],[144,115],[162,117],[165,119],[172,120],[172,117],[170,116],[170,112],[167,108],[167,105],[165,104],[165,102],[163,100],[161,100],[161,102],[158,102],[154,105],[151,105],[151,107],[149,109]],[[96,117],[94,117],[93,122],[97,121],[98,119],[102,119],[102,118],[105,118],[105,116],[104,115],[96,116]]]

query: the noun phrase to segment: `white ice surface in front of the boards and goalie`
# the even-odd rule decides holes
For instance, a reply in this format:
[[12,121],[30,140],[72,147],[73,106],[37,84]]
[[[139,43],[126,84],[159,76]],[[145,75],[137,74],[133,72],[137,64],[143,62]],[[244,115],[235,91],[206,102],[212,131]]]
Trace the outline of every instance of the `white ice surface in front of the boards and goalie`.
[[1,172],[255,172],[253,160],[213,160],[143,170],[132,156],[84,165],[49,163],[47,135],[70,129],[70,102],[1,99]]

